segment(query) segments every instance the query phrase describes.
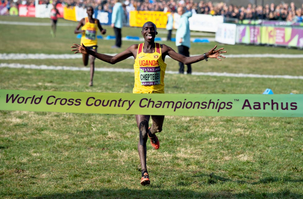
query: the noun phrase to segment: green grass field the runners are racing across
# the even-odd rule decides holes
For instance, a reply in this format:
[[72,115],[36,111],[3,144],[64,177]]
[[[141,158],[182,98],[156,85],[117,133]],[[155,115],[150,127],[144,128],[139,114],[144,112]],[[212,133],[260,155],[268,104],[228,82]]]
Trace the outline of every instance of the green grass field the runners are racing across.
[[[0,16],[0,21],[50,23],[49,19]],[[0,23],[3,53],[72,54],[79,43],[76,22],[49,26]],[[106,35],[114,35],[110,27]],[[158,30],[165,37],[165,30]],[[122,35],[140,36],[140,28]],[[99,52],[118,53],[136,42],[99,40]],[[175,48],[174,42],[163,42]],[[191,54],[216,45],[192,43]],[[302,58],[228,58],[238,54],[302,54],[302,50],[222,45],[228,54],[193,64],[193,72],[302,76]],[[96,68],[132,68],[132,59]],[[7,64],[83,68],[81,59],[0,60]],[[167,70],[178,63],[166,59]],[[0,89],[130,93],[133,74],[0,68]],[[167,74],[166,93],[302,94],[302,79]],[[161,147],[147,145],[150,186],[139,180],[139,139],[134,115],[0,111],[0,198],[303,198],[303,120],[276,117],[167,116],[158,134]]]

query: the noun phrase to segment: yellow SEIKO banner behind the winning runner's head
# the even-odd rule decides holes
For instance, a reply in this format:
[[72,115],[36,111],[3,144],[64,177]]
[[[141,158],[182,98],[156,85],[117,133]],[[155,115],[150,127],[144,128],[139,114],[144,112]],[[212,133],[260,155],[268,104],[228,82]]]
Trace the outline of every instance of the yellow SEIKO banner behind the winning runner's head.
[[130,26],[142,27],[145,22],[151,21],[157,28],[166,28],[167,15],[169,12],[161,11],[130,11]]

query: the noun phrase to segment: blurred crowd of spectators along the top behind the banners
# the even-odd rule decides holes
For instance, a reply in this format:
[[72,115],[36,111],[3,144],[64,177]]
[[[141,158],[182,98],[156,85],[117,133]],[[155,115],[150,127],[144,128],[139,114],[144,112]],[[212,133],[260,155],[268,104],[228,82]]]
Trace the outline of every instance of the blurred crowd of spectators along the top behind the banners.
[[[39,4],[52,3],[55,0],[39,0]],[[58,0],[65,6],[86,7],[88,5],[98,10],[111,12],[114,0]],[[295,5],[293,2],[280,4],[266,4],[247,6],[227,5],[224,2],[212,3],[211,1],[194,2],[194,0],[122,0],[126,15],[131,10],[164,11],[177,10],[182,5],[193,14],[222,15],[227,19],[241,21],[244,19],[281,20],[288,22],[302,22],[303,3]],[[34,5],[35,0],[1,0],[0,5],[11,4]]]

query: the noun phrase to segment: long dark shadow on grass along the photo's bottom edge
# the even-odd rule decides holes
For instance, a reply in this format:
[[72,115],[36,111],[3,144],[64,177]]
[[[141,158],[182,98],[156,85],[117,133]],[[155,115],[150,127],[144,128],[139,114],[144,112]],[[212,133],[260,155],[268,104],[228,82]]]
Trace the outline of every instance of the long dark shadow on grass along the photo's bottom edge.
[[32,197],[32,199],[42,198],[302,198],[302,195],[292,193],[288,190],[275,193],[233,193],[231,191],[212,192],[194,192],[179,189],[100,189],[86,190],[75,193],[58,193]]

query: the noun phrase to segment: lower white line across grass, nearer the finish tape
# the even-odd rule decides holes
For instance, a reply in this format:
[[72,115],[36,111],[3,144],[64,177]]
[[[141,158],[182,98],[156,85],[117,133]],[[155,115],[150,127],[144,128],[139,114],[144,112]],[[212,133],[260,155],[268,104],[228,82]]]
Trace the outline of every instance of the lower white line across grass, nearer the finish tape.
[[[43,70],[71,70],[71,71],[89,71],[89,67],[73,67],[73,66],[47,66],[35,64],[17,64],[17,63],[0,63],[0,68],[28,68],[28,69],[43,69]],[[95,71],[101,72],[127,72],[134,73],[134,69],[127,68],[95,68]],[[168,74],[177,74],[177,71],[165,71]],[[218,76],[218,77],[254,77],[254,78],[283,78],[283,79],[303,79],[303,76],[290,75],[260,75],[260,74],[244,74],[244,73],[216,73],[216,72],[193,72],[192,75],[203,76]]]

